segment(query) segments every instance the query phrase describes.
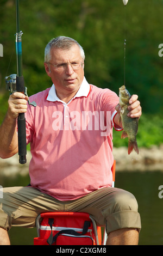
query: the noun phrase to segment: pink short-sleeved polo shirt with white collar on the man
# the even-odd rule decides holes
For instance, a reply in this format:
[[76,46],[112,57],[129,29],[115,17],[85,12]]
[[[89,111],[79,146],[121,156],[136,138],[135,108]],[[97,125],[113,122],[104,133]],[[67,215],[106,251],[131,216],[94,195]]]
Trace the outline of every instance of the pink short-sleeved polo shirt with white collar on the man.
[[111,186],[112,127],[118,96],[83,80],[65,103],[55,86],[30,97],[26,113],[31,185],[59,200]]

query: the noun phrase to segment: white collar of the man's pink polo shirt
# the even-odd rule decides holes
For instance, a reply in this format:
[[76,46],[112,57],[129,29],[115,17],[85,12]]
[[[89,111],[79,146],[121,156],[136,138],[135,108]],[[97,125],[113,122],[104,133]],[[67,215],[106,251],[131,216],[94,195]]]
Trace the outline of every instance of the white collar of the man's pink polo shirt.
[[[89,92],[90,92],[90,84],[86,81],[86,79],[84,77],[83,82],[82,82],[78,92],[76,93],[76,95],[74,95],[73,99],[76,97],[82,97],[82,96],[87,97],[87,95],[89,95]],[[60,99],[58,98],[58,96],[56,94],[54,83],[53,83],[51,89],[49,90],[48,96],[46,99],[48,101],[60,101]]]

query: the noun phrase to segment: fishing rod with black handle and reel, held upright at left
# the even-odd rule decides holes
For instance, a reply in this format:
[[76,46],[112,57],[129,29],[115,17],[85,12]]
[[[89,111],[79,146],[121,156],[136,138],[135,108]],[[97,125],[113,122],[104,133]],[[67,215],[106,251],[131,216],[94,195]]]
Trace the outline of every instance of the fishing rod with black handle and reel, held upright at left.
[[[19,15],[19,0],[16,0],[16,34],[15,34],[15,46],[16,46],[16,62],[17,62],[17,75],[12,74],[5,77],[6,88],[11,93],[21,92],[27,95],[27,87],[24,87],[24,77],[22,68],[22,31],[20,31],[20,15]],[[11,78],[8,80],[8,78]],[[30,105],[36,106],[35,102]],[[18,133],[18,155],[19,162],[24,164],[27,162],[27,144],[26,144],[26,118],[24,113],[18,114],[17,118],[17,133]]]

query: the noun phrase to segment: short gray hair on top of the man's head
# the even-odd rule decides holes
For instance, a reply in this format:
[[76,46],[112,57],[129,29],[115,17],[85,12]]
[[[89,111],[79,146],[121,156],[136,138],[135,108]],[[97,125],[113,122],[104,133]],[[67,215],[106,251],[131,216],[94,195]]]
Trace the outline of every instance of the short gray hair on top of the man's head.
[[47,46],[45,47],[45,62],[48,63],[51,60],[51,50],[53,48],[61,48],[62,50],[70,50],[73,45],[78,45],[81,53],[81,57],[83,60],[85,59],[85,53],[83,47],[79,45],[79,43],[72,39],[68,38],[67,36],[58,36],[57,38],[53,38],[51,41],[48,42]]

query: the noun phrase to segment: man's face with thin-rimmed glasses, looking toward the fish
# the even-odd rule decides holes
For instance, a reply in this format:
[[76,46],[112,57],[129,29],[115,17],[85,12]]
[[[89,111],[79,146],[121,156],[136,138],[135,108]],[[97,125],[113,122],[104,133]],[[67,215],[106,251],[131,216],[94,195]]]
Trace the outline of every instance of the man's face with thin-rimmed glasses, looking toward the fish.
[[[72,63],[82,62],[84,60],[81,57],[80,49],[77,45],[74,45],[70,50],[52,49],[50,63],[57,65],[59,63]],[[45,63],[45,70],[47,75],[51,77],[52,82],[55,85],[57,95],[73,95],[76,94],[84,78],[84,65],[79,70],[73,70],[71,65],[67,65],[66,70],[58,71],[53,65]]]

